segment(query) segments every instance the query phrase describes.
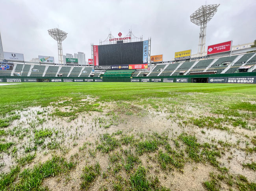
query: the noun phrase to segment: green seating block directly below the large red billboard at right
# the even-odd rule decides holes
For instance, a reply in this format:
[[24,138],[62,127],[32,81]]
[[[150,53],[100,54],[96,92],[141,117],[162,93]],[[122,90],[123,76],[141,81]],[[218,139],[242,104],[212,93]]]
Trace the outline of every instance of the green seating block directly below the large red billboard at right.
[[[211,65],[210,68],[208,68],[207,71],[217,71],[216,73],[219,74],[224,69],[226,69],[226,67],[228,67],[228,64],[232,63],[236,59],[236,57],[237,55],[219,58],[213,65]],[[226,65],[223,65],[223,63],[226,63]]]

